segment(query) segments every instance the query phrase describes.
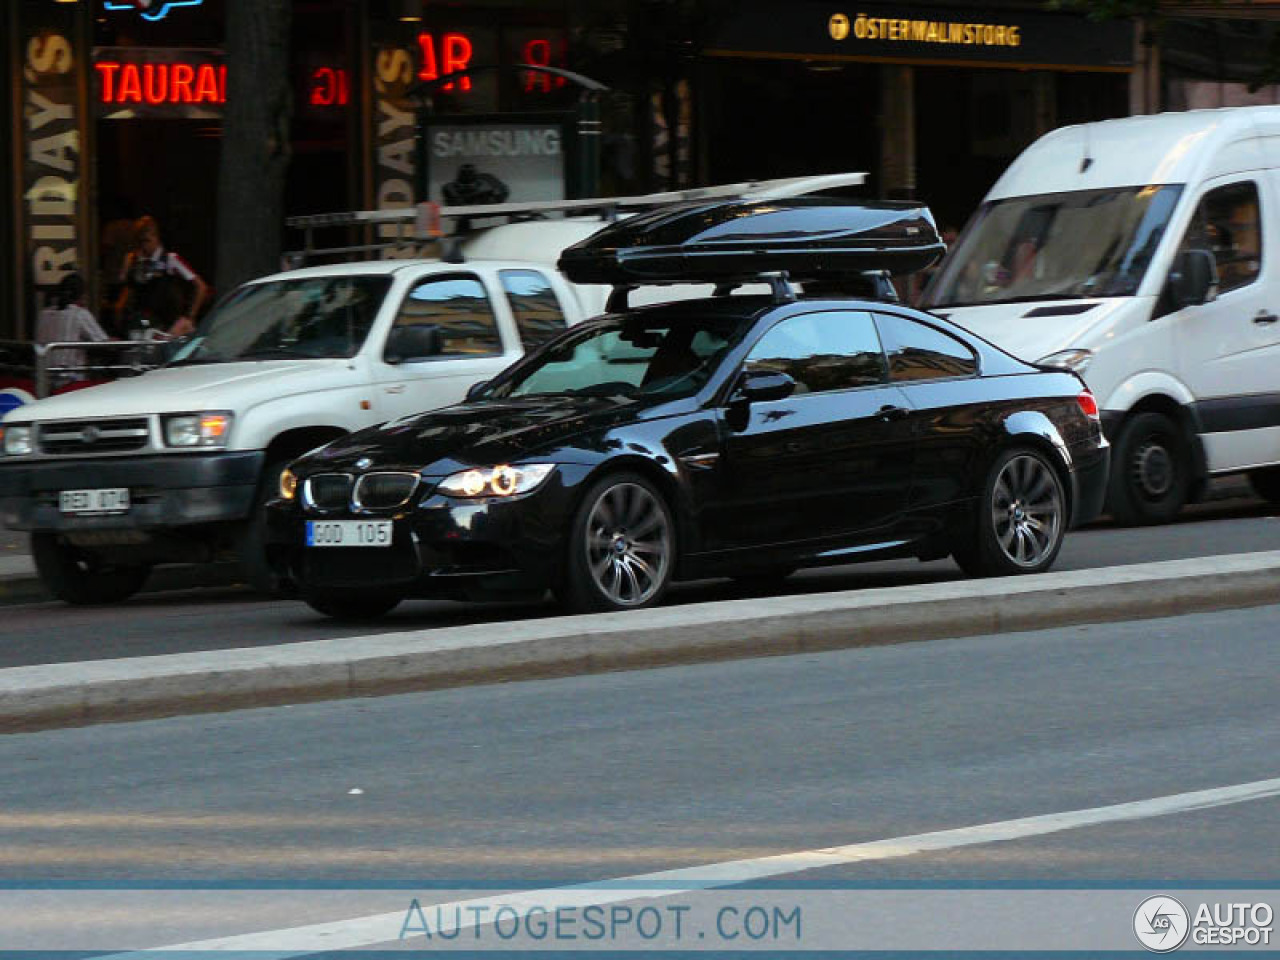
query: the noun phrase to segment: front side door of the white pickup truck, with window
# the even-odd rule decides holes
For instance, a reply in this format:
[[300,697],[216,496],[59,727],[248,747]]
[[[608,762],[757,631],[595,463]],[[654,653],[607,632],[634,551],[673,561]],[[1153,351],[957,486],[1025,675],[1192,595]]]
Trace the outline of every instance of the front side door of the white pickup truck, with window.
[[[433,351],[408,360],[389,356],[387,348],[402,326],[434,329]],[[379,416],[394,420],[461,401],[472,384],[495,376],[520,357],[508,326],[499,324],[494,298],[477,274],[460,270],[416,280],[374,358]]]

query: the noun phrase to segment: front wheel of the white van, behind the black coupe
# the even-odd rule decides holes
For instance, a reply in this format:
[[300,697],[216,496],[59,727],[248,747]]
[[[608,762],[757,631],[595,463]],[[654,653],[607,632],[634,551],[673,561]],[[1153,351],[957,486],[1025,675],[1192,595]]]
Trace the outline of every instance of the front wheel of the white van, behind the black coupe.
[[1164,413],[1125,421],[1111,452],[1107,512],[1124,526],[1167,524],[1187,503],[1192,483],[1187,435]]

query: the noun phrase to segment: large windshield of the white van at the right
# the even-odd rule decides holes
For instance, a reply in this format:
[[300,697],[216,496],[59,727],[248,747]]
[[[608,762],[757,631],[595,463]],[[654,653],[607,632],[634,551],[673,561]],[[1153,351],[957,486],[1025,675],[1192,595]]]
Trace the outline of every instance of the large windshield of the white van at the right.
[[1120,187],[986,204],[924,305],[1132,297],[1181,192]]

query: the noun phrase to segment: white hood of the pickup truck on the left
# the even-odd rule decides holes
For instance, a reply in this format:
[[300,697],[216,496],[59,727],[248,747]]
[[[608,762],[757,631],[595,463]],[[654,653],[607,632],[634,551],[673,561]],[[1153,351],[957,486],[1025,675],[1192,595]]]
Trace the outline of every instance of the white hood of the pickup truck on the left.
[[349,360],[273,360],[160,367],[141,376],[49,397],[20,408],[23,420],[244,411],[264,401],[332,384]]

